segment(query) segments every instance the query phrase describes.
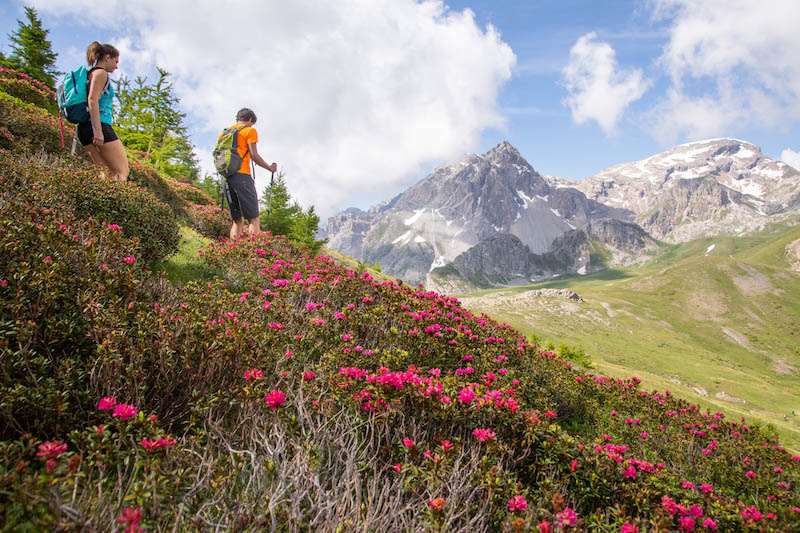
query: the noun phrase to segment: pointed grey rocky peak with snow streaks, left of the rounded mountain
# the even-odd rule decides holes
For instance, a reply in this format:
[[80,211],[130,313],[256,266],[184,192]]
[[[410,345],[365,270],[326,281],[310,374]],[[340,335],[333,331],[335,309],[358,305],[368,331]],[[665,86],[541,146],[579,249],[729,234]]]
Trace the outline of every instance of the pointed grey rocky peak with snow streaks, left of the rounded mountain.
[[551,187],[507,142],[435,169],[380,208],[331,217],[329,246],[410,283],[497,234],[546,253],[559,235],[632,213]]

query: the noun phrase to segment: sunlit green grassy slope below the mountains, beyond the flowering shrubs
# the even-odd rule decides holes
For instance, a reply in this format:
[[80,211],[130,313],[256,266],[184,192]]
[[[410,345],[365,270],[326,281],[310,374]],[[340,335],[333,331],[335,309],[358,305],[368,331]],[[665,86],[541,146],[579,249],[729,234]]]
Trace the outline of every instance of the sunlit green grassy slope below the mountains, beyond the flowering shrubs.
[[[800,226],[701,239],[638,270],[611,269],[462,300],[526,335],[583,346],[603,374],[636,375],[647,387],[773,424],[782,442],[797,450],[800,273],[789,270],[783,256],[797,239]],[[570,288],[586,301],[526,295],[545,287]]]

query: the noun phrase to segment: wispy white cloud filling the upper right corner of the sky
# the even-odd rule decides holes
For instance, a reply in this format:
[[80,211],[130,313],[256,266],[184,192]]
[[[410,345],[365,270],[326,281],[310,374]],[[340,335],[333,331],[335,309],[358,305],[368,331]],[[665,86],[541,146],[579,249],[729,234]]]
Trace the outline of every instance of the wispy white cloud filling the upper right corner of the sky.
[[658,60],[671,88],[655,107],[662,141],[800,119],[800,2],[653,0],[669,24]]

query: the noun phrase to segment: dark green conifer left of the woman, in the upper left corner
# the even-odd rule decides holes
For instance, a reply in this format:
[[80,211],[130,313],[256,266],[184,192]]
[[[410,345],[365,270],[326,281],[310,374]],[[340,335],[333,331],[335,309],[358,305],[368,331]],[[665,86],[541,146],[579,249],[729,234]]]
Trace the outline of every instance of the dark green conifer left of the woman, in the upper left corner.
[[55,89],[60,72],[55,66],[58,54],[53,52],[52,43],[47,39],[50,30],[44,29],[34,8],[26,7],[25,16],[27,23],[17,19],[19,27],[9,35],[11,55],[4,63]]

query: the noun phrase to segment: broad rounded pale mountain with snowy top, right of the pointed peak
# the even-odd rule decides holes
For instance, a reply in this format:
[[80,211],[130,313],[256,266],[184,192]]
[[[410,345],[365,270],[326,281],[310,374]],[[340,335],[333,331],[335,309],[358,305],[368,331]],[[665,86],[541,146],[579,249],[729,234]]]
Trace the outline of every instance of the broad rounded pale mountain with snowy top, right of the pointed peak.
[[800,173],[735,139],[682,144],[581,182],[550,183],[633,212],[645,230],[669,242],[752,231],[800,206]]

